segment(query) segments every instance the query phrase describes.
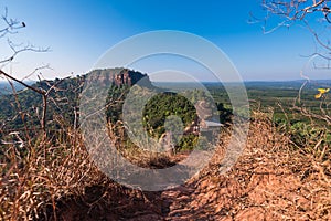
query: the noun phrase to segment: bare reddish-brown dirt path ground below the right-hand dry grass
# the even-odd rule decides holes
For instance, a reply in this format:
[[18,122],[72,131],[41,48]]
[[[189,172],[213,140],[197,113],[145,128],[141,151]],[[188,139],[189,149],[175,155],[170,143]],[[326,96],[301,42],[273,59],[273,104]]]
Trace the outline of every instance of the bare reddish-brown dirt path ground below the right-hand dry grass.
[[209,170],[162,192],[94,190],[89,202],[66,204],[62,220],[330,220],[330,186],[318,173],[300,177],[268,160],[243,161],[226,176]]

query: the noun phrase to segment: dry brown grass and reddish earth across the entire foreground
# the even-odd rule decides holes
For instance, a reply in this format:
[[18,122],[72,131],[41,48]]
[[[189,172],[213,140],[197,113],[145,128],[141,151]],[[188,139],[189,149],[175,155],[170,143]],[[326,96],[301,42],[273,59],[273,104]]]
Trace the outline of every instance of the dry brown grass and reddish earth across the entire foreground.
[[255,113],[254,118],[246,149],[233,169],[218,172],[222,149],[229,139],[224,135],[210,166],[185,185],[191,189],[181,192],[185,198],[172,197],[166,213],[161,193],[124,188],[99,172],[77,130],[63,128],[52,137],[40,135],[22,148],[3,146],[0,219],[75,220],[73,215],[81,214],[85,220],[111,220],[146,215],[146,211],[154,215],[150,219],[170,220],[329,219],[330,151],[321,158],[313,149],[297,149],[268,115]]

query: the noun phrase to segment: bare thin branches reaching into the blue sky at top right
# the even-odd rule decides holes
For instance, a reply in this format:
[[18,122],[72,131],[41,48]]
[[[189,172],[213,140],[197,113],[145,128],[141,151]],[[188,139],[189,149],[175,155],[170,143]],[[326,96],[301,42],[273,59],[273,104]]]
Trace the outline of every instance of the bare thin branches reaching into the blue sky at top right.
[[[296,23],[306,27],[316,39],[321,50],[314,54],[330,61],[330,27],[331,27],[331,1],[330,0],[263,0],[261,7],[266,11],[264,18],[257,18],[250,13],[250,22],[263,23],[264,33],[270,33],[279,28],[290,28]],[[279,19],[276,24],[270,21]],[[312,28],[311,22],[318,22],[321,30]],[[316,27],[316,25],[314,25]]]

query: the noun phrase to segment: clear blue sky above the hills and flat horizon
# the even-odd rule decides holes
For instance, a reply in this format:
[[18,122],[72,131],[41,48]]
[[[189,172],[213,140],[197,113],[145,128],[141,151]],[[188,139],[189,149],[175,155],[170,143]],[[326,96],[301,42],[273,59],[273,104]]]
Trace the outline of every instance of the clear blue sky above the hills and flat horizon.
[[[299,25],[264,34],[261,24],[248,23],[249,12],[264,14],[257,0],[0,0],[2,14],[6,7],[11,18],[26,23],[11,36],[13,41],[51,49],[47,53],[20,54],[3,67],[20,77],[44,64],[53,69],[43,71],[45,78],[86,73],[121,40],[154,30],[179,30],[205,38],[224,51],[246,81],[300,78],[307,62],[300,55],[314,49],[311,34]],[[6,39],[0,41],[3,59],[8,49]],[[161,57],[132,67],[153,72],[167,62],[173,63],[172,67],[190,64]],[[203,72],[192,66],[188,71],[197,75]],[[330,74],[313,70],[308,74],[311,78],[330,78]]]

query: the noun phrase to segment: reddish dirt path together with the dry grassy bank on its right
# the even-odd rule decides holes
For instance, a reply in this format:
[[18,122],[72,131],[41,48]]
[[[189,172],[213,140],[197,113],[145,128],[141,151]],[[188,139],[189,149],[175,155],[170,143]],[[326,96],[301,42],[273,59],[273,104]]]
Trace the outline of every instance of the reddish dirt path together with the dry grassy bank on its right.
[[[257,123],[261,124],[261,123]],[[225,175],[220,156],[199,177],[162,192],[93,187],[58,209],[58,220],[331,220],[330,160],[289,150],[288,138],[254,125]]]

